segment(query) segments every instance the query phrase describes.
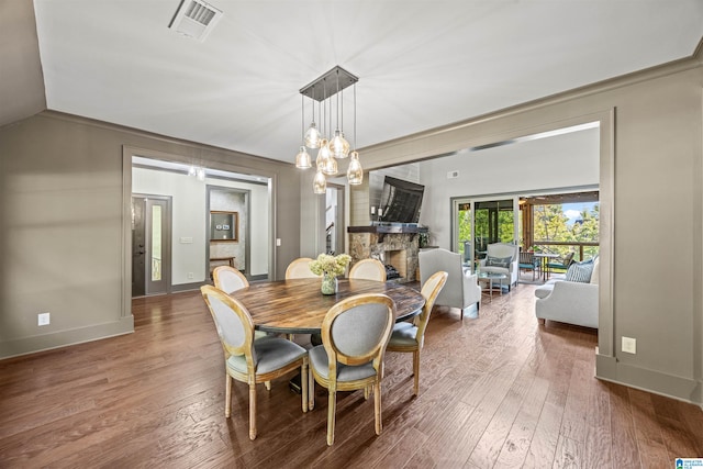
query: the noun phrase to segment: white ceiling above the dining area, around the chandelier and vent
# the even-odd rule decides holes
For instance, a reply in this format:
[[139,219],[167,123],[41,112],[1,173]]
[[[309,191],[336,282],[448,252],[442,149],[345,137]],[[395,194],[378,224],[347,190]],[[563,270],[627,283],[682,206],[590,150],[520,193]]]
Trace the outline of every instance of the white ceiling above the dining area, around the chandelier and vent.
[[701,0],[211,0],[202,43],[168,29],[179,0],[34,3],[48,109],[290,163],[299,89],[335,65],[359,77],[362,148],[690,57],[703,35]]

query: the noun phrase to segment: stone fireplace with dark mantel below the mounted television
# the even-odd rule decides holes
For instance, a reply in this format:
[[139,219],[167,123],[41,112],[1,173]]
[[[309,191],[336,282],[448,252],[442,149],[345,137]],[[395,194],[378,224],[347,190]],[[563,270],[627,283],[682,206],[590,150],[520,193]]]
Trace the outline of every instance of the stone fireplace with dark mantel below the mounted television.
[[422,230],[417,226],[349,226],[352,265],[361,259],[379,259],[398,271],[399,278],[389,280],[403,283],[420,280],[415,271],[420,250],[417,233]]

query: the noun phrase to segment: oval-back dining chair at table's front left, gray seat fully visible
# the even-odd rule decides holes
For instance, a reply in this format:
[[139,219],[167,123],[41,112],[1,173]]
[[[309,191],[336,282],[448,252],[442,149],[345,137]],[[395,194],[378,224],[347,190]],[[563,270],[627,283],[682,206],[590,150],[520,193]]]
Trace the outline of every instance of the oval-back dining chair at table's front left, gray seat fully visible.
[[300,369],[302,409],[308,412],[308,351],[280,337],[254,338],[246,308],[212,286],[200,288],[222,343],[225,364],[224,415],[232,413],[232,379],[249,384],[249,438],[256,438],[256,384]]

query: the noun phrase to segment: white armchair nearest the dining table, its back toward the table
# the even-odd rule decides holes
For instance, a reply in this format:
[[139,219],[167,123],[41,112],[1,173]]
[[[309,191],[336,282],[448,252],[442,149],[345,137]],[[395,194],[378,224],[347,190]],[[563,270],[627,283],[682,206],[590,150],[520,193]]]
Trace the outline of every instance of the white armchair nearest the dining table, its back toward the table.
[[421,284],[425,284],[435,272],[444,270],[448,273],[447,282],[437,295],[435,304],[460,309],[462,320],[468,306],[476,303],[476,308],[480,308],[481,287],[476,275],[464,270],[460,254],[440,248],[421,250],[419,261]]

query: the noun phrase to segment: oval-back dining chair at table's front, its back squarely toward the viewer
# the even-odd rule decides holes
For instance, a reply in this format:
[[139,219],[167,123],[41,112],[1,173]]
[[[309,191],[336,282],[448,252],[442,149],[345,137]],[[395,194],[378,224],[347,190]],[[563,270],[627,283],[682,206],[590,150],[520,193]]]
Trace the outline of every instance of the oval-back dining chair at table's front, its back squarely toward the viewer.
[[373,389],[376,434],[380,435],[383,354],[395,319],[395,303],[378,293],[357,294],[339,301],[322,322],[322,345],[310,349],[310,407],[314,382],[327,388],[327,445],[334,443],[337,391]]

